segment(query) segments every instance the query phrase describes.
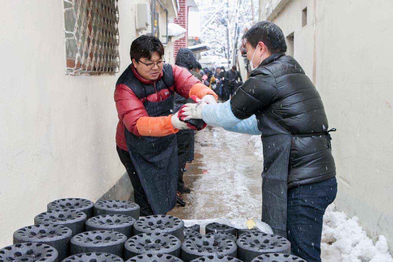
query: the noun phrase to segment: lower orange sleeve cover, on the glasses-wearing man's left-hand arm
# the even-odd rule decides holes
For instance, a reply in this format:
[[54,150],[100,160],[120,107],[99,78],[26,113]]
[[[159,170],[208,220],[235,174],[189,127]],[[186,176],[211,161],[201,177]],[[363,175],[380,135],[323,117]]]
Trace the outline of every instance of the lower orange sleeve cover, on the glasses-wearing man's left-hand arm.
[[171,116],[142,116],[136,122],[136,128],[141,136],[165,137],[177,133],[179,129],[173,128]]

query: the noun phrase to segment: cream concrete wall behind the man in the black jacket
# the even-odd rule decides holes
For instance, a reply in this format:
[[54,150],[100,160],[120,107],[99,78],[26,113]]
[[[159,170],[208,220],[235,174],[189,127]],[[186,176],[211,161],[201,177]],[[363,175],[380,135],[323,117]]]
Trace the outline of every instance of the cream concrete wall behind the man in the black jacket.
[[294,57],[316,84],[329,127],[338,129],[338,209],[358,216],[374,239],[385,235],[392,249],[393,2],[292,0],[276,14],[268,2],[280,4],[261,0],[261,19],[273,20],[285,36],[294,33]]

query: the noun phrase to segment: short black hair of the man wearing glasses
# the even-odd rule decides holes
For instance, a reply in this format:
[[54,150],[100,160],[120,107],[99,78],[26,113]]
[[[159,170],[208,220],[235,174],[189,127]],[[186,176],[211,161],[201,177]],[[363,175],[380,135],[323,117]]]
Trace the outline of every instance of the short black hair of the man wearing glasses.
[[141,35],[131,43],[131,61],[135,59],[138,62],[142,57],[150,60],[154,52],[158,52],[160,57],[164,56],[164,46],[154,35]]

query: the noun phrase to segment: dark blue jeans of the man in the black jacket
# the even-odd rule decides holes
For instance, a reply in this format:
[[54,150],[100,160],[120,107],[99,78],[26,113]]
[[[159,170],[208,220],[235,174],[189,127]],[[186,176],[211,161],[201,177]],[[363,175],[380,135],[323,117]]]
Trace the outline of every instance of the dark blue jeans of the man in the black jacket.
[[288,188],[286,236],[291,254],[307,262],[321,261],[323,214],[337,194],[336,177]]

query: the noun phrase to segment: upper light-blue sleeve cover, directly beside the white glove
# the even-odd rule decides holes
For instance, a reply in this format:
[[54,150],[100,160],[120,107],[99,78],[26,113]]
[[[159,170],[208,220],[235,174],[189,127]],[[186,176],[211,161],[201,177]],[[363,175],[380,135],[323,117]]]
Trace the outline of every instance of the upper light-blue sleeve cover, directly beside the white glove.
[[208,125],[234,127],[242,120],[236,118],[231,110],[230,100],[225,103],[205,105],[202,108],[202,119]]

